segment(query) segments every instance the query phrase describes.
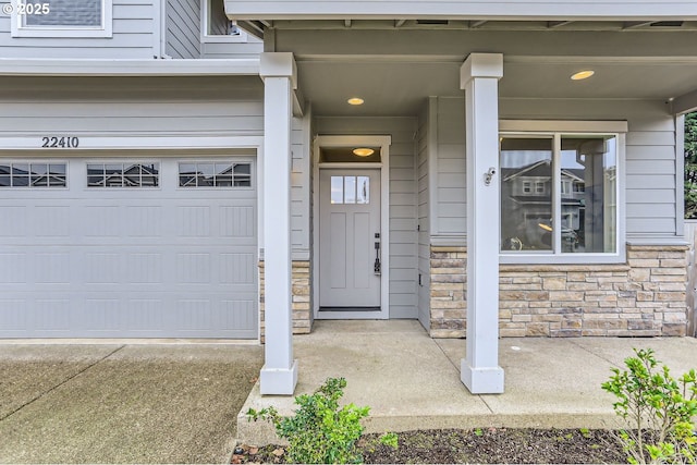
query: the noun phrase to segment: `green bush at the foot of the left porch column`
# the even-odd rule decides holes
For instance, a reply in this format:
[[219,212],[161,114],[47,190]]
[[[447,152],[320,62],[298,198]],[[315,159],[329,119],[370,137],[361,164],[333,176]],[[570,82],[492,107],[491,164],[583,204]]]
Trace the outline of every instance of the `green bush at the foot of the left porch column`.
[[369,407],[339,406],[346,387],[344,378],[329,378],[313,395],[295,397],[295,415],[281,417],[273,407],[249,409],[249,419],[269,420],[279,438],[288,439],[286,460],[298,464],[362,463],[356,441],[363,433],[360,419]]

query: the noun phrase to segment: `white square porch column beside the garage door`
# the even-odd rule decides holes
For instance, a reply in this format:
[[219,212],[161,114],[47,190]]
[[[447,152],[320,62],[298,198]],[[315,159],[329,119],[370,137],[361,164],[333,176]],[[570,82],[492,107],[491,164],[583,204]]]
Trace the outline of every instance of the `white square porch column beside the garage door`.
[[261,394],[292,395],[297,384],[291,306],[291,118],[293,53],[261,53],[264,79],[265,364]]

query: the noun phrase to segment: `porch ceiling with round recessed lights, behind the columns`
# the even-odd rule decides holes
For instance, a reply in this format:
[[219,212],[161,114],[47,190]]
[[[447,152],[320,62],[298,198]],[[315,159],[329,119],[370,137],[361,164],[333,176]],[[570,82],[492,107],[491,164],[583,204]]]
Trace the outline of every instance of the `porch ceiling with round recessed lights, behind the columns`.
[[[465,57],[297,58],[298,83],[320,115],[413,115],[429,96],[462,96],[460,65]],[[585,81],[570,76],[580,70]],[[622,60],[504,54],[501,98],[659,99],[697,88],[697,58]],[[350,97],[365,103],[352,107]]]

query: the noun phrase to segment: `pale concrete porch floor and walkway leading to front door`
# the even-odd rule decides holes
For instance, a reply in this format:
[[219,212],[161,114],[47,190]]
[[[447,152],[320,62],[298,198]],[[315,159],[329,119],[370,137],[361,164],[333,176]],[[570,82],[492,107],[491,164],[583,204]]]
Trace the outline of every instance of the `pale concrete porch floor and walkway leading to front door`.
[[[651,347],[677,377],[697,367],[692,338],[502,339],[505,393],[472,395],[460,381],[464,340],[432,340],[417,321],[316,321],[294,338],[299,360],[296,394],[328,377],[347,380],[345,402],[371,407],[367,431],[487,426],[608,428],[616,426],[613,396],[600,384],[623,367],[632,347]],[[294,409],[293,397],[264,396],[258,384],[237,421],[242,442],[278,442],[265,423],[248,423],[249,407]]]

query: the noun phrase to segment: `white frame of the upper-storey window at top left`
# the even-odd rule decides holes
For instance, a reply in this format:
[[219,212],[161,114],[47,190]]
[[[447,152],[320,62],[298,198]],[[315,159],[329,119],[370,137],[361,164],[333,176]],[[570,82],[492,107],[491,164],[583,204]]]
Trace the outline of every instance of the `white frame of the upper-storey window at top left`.
[[[24,26],[17,14],[17,3],[21,0],[11,0],[12,13],[10,14],[10,28],[12,37],[95,37],[110,38],[113,35],[113,2],[101,0],[101,26]],[[46,0],[49,3],[50,0]]]

